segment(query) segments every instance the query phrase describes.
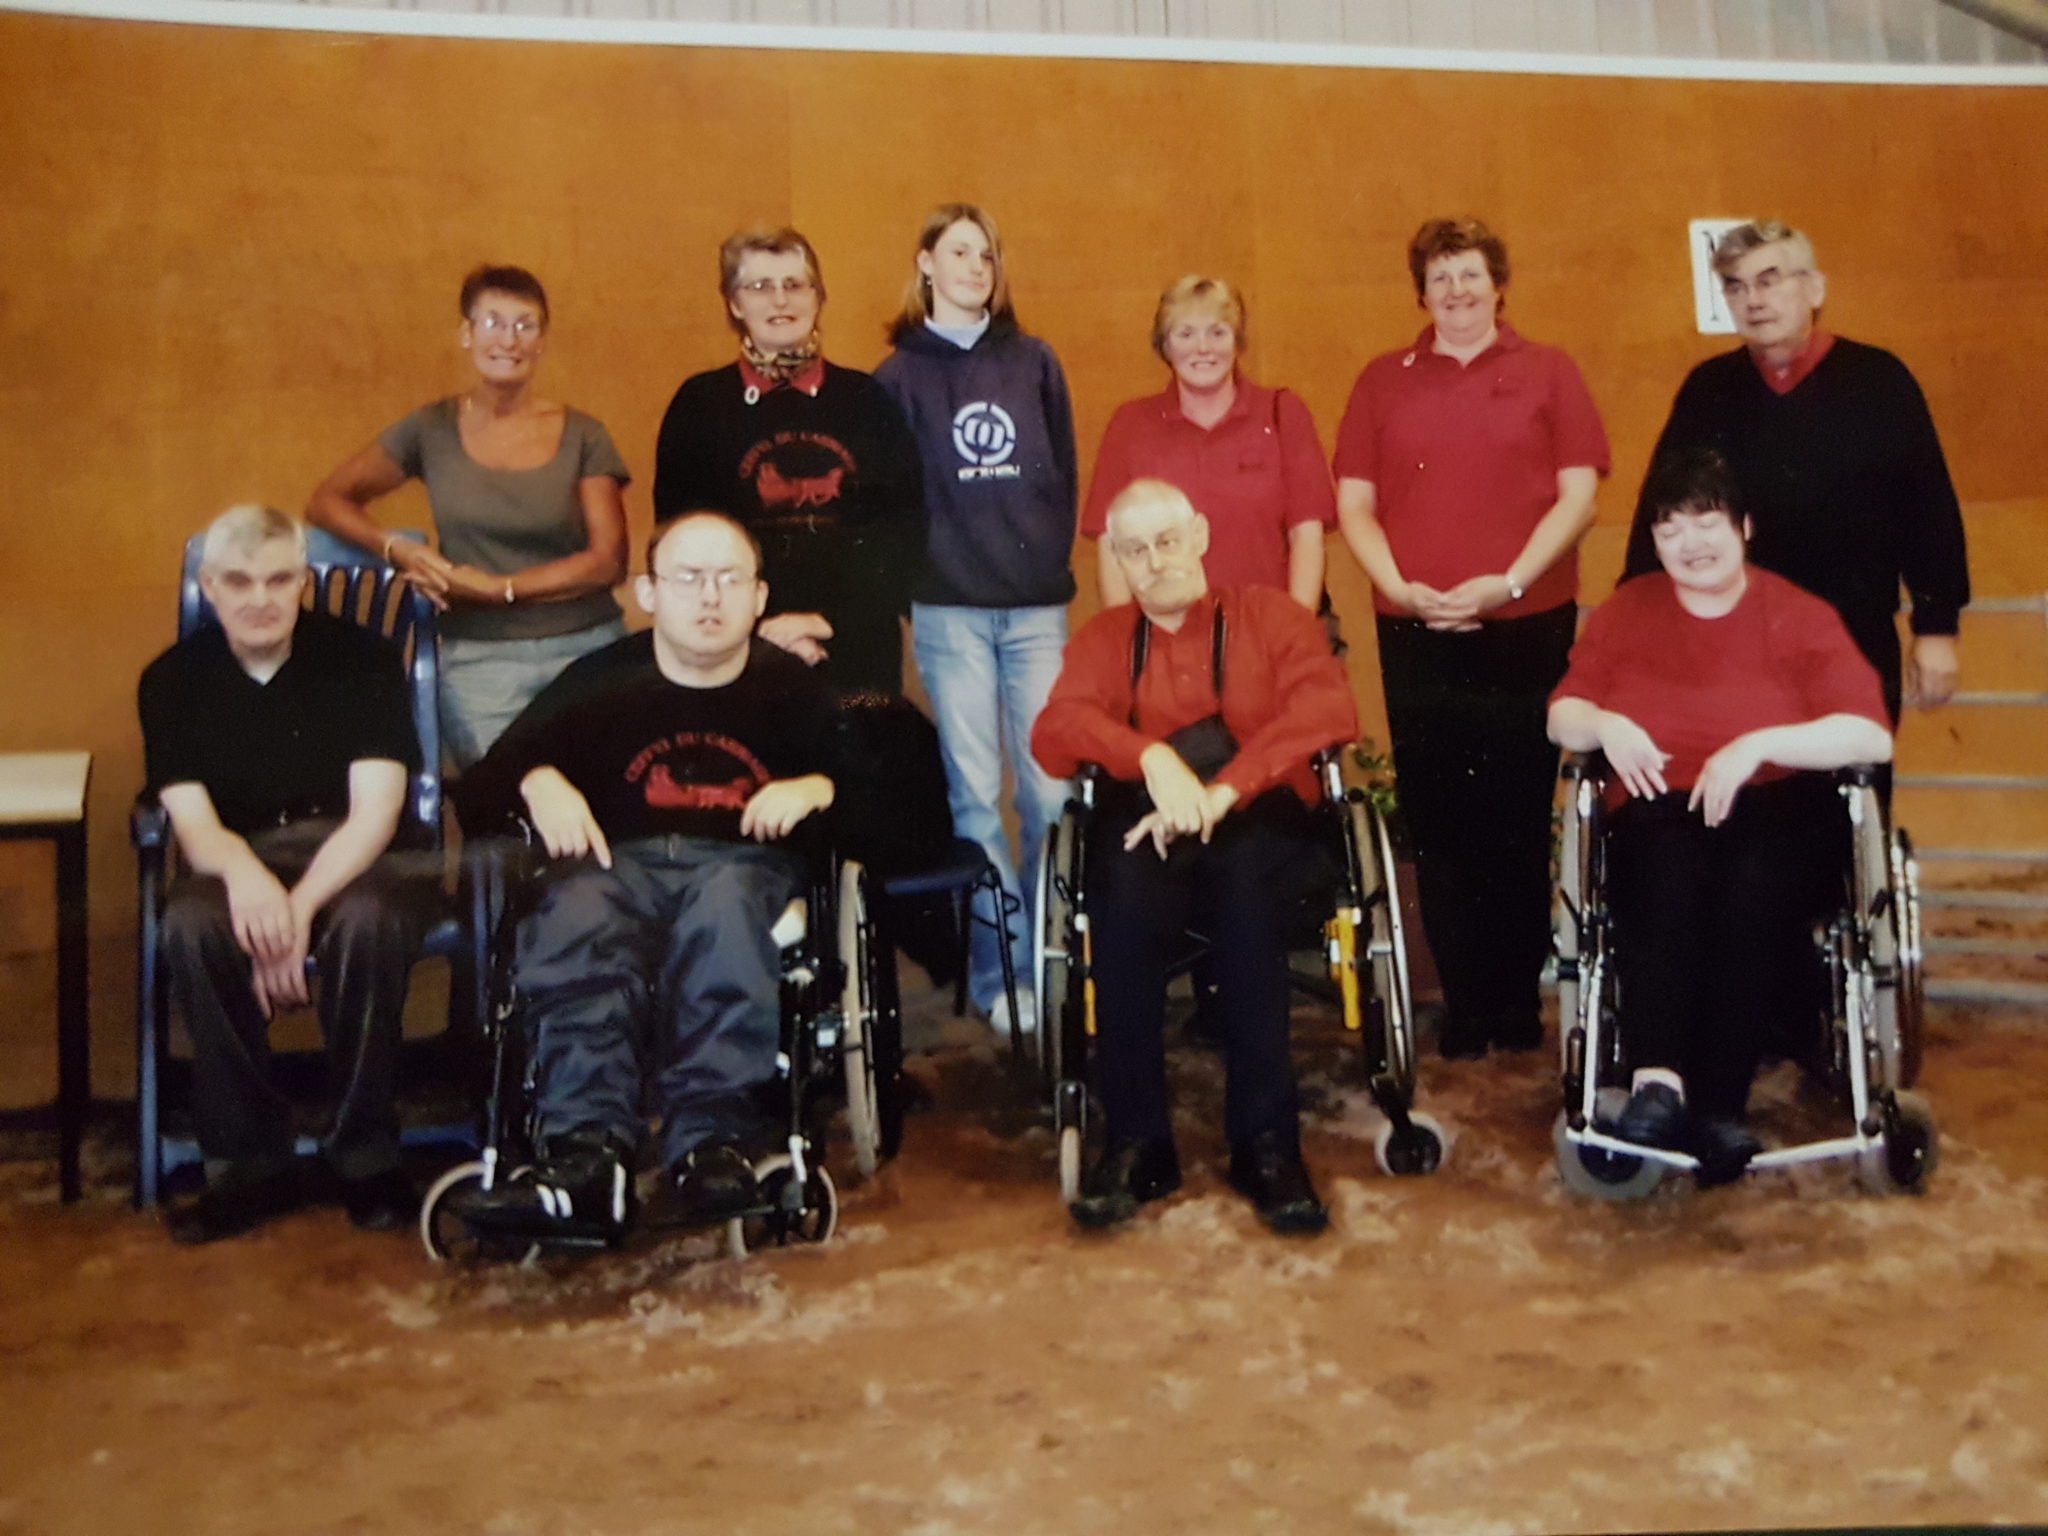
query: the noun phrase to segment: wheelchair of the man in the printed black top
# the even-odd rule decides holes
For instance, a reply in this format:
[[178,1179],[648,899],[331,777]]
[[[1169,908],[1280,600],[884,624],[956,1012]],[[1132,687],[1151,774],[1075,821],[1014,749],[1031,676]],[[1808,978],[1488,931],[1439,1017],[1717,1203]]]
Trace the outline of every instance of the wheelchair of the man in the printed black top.
[[[528,883],[522,883],[530,887]],[[782,1147],[758,1159],[762,1198],[725,1221],[733,1257],[786,1243],[823,1243],[840,1217],[840,1196],[825,1167],[825,1133],[844,1108],[854,1169],[872,1178],[903,1141],[903,1020],[895,956],[874,918],[874,883],[852,860],[817,860],[803,895],[774,926],[780,948],[782,1042],[772,1098]],[[512,903],[496,926],[487,1016],[489,1077],[483,1094],[481,1153],[428,1188],[420,1202],[420,1241],[436,1262],[524,1262],[543,1251],[616,1247],[631,1237],[684,1231],[672,1212],[666,1171],[641,1180],[647,1200],[629,1233],[508,1237],[479,1231],[465,1206],[535,1159],[537,1081],[526,1051],[518,987],[512,977]]]

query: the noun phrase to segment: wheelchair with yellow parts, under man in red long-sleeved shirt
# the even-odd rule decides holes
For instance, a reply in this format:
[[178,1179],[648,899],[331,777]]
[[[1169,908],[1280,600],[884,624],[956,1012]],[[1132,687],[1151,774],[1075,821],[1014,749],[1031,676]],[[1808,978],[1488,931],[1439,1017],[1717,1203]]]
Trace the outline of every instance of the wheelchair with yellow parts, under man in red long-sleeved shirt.
[[[1393,840],[1370,797],[1343,782],[1341,748],[1317,754],[1317,819],[1333,850],[1327,915],[1305,928],[1298,948],[1321,950],[1323,977],[1290,971],[1296,987],[1333,1001],[1364,1055],[1366,1090],[1384,1116],[1372,1157],[1384,1174],[1434,1174],[1444,1161],[1444,1126],[1415,1108],[1415,1010],[1409,993],[1401,901],[1395,893]],[[1059,1143],[1059,1198],[1081,1190],[1081,1149],[1092,1120],[1087,1063],[1096,1034],[1096,987],[1087,922],[1087,829],[1096,815],[1100,770],[1085,768],[1059,821],[1047,829],[1038,860],[1032,985],[1038,1020],[1030,1032],[1036,1069],[1053,1106]],[[1171,973],[1192,969],[1206,936],[1190,932],[1188,952]]]

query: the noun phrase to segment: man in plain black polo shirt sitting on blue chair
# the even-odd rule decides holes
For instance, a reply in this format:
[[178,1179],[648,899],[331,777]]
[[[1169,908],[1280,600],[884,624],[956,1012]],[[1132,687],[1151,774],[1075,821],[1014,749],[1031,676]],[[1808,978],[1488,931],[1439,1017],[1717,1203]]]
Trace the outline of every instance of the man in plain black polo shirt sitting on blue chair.
[[305,530],[238,506],[207,528],[199,586],[219,625],[141,676],[150,788],[188,872],[164,909],[164,958],[193,1036],[193,1116],[207,1190],[172,1239],[207,1243],[299,1202],[291,1106],[266,1071],[268,1024],[307,1001],[340,1102],[326,1157],[356,1227],[414,1212],[397,1165],[393,1075],[406,983],[432,922],[432,862],[387,852],[420,762],[397,649],[301,612]]

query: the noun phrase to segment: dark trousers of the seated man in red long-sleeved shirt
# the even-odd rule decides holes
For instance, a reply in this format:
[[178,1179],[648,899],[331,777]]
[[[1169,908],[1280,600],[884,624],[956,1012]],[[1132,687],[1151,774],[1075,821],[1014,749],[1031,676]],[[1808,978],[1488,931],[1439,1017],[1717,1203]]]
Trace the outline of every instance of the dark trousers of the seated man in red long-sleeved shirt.
[[1094,926],[1096,1083],[1110,1141],[1167,1141],[1165,973],[1186,930],[1210,936],[1210,975],[1225,1030],[1225,1133],[1296,1135],[1288,1057],[1286,946],[1305,877],[1317,866],[1315,823],[1292,791],[1268,791],[1227,815],[1210,842],[1151,842],[1124,852],[1137,817],[1096,815],[1087,846]]

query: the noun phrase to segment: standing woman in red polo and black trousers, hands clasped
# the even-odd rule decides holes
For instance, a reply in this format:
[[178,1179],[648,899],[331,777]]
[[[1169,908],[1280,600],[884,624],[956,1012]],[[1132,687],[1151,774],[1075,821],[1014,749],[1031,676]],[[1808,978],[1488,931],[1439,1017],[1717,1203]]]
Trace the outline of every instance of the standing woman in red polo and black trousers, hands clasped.
[[1571,358],[1501,317],[1507,248],[1479,219],[1409,242],[1430,324],[1358,375],[1337,516],[1372,578],[1380,678],[1446,1057],[1542,1044],[1550,948],[1544,700],[1577,621],[1579,535],[1608,436]]

